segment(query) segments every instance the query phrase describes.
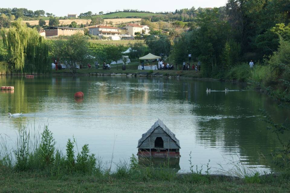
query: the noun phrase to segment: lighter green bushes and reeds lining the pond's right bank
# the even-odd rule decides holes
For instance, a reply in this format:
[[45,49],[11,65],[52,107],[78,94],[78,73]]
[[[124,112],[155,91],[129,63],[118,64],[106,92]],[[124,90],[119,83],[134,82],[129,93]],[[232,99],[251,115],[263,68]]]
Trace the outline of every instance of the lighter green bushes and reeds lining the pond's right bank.
[[290,42],[280,38],[276,52],[264,65],[238,65],[230,71],[217,74],[217,78],[247,82],[252,88],[261,89],[276,100],[290,103]]

